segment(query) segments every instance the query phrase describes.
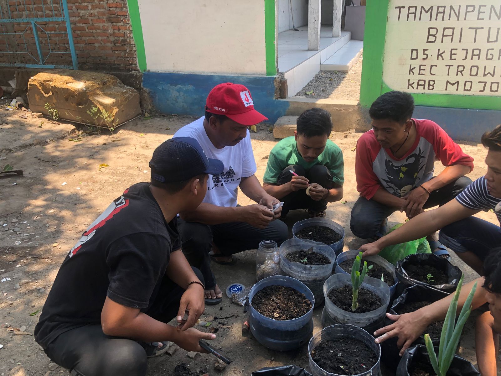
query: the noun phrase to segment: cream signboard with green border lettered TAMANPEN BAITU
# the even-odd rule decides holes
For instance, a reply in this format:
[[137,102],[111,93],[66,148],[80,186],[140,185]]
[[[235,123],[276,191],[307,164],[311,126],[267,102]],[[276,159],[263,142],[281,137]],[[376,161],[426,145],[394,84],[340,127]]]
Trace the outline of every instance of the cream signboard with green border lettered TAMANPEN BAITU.
[[362,105],[402,90],[417,105],[501,109],[501,1],[382,0],[367,7]]

